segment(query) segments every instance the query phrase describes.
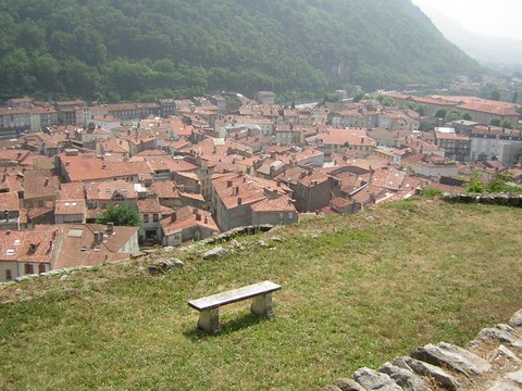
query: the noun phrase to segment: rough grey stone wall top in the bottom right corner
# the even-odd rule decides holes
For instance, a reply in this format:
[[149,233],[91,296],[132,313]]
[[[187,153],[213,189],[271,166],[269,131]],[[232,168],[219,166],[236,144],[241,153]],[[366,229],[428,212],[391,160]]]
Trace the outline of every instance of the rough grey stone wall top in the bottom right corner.
[[411,356],[385,363],[378,371],[360,368],[352,379],[337,379],[335,388],[324,390],[522,391],[522,310],[509,325],[481,330],[465,349],[430,343]]

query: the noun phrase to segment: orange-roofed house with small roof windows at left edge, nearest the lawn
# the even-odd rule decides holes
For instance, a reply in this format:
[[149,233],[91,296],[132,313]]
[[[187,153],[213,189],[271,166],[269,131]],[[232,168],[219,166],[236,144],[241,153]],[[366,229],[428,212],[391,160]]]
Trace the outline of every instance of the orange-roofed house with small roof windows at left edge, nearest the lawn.
[[61,230],[54,226],[0,230],[0,282],[53,269],[61,240]]

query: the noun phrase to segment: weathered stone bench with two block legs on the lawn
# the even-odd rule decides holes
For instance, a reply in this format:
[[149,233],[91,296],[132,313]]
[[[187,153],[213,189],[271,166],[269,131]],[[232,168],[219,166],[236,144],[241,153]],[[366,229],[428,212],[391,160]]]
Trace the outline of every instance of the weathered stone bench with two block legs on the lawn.
[[277,283],[263,281],[207,298],[190,300],[188,305],[199,311],[198,327],[201,330],[217,333],[220,332],[220,306],[253,298],[250,311],[259,316],[271,317],[274,315],[272,292],[279,289],[281,286]]

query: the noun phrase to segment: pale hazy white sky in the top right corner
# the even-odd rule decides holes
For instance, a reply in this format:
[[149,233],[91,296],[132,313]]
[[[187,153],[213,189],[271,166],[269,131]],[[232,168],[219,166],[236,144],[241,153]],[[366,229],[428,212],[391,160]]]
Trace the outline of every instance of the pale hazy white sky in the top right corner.
[[472,33],[522,40],[522,0],[412,0],[412,2],[421,10],[423,4],[430,4],[459,21]]

